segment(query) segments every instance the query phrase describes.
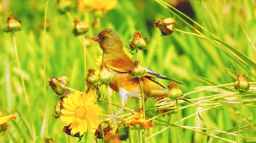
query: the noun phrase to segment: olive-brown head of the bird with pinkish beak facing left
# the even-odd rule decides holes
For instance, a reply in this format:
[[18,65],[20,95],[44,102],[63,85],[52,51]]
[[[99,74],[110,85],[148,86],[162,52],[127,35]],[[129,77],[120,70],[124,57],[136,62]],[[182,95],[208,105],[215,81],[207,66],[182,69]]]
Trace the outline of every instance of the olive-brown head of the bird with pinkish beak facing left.
[[123,44],[120,37],[112,29],[104,29],[91,39],[98,42],[103,51],[123,49]]

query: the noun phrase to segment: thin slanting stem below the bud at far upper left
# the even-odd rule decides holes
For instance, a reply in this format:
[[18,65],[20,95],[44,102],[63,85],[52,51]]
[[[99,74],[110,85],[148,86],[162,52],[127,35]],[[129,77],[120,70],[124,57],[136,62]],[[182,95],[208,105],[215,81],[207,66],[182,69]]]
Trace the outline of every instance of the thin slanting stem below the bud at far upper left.
[[33,139],[35,139],[36,138],[36,131],[35,131],[34,123],[33,123],[33,120],[32,120],[31,108],[30,108],[30,105],[29,105],[29,97],[27,95],[27,90],[26,90],[26,87],[25,87],[25,82],[24,82],[24,78],[23,78],[23,74],[22,74],[22,70],[21,70],[21,63],[20,63],[20,60],[18,59],[18,49],[17,49],[16,38],[14,36],[14,33],[12,33],[12,39],[13,39],[13,43],[14,43],[14,52],[15,52],[16,62],[17,62],[17,65],[18,65],[19,72],[21,74],[20,75],[21,76],[21,83],[22,83],[24,94],[25,94],[25,101],[26,101],[26,104],[27,104],[27,110],[29,112],[29,120],[31,122],[31,127],[32,127],[32,131],[33,131]]

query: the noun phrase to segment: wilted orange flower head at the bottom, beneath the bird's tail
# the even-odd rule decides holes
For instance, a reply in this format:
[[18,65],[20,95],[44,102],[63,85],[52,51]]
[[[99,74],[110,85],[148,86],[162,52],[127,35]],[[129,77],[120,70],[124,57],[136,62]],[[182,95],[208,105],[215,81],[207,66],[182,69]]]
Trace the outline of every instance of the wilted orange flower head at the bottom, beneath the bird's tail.
[[139,113],[133,112],[132,113],[134,118],[131,118],[128,121],[123,120],[123,123],[130,125],[131,129],[148,129],[153,127],[153,124],[145,119],[144,112],[140,111]]

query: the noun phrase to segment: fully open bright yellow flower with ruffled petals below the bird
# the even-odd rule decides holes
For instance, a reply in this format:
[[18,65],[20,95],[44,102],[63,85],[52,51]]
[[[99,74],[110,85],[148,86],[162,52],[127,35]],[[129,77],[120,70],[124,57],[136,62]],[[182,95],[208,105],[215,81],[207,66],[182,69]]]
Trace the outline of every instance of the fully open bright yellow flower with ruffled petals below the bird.
[[99,126],[97,115],[102,114],[102,111],[95,101],[94,92],[86,94],[79,91],[74,91],[63,99],[64,110],[60,118],[71,129],[71,135],[78,133],[81,137],[87,131],[97,129]]

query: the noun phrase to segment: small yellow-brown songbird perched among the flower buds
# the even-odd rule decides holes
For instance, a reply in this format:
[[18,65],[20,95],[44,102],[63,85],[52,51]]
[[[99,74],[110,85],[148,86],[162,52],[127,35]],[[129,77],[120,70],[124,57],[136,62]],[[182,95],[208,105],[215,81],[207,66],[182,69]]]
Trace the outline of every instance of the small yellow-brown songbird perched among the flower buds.
[[[116,80],[108,84],[111,89],[119,93],[122,100],[120,110],[114,115],[116,117],[125,107],[128,97],[142,98],[139,79],[131,76],[134,62],[123,50],[123,43],[114,30],[104,29],[91,39],[98,42],[103,50],[101,67],[107,67],[107,70],[116,76]],[[152,77],[165,80],[171,79],[147,68],[146,73],[146,76],[141,78],[144,97],[168,97],[168,89],[164,88]],[[180,82],[177,83],[181,84]]]

